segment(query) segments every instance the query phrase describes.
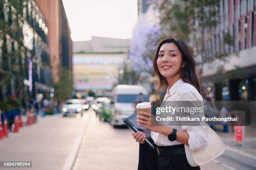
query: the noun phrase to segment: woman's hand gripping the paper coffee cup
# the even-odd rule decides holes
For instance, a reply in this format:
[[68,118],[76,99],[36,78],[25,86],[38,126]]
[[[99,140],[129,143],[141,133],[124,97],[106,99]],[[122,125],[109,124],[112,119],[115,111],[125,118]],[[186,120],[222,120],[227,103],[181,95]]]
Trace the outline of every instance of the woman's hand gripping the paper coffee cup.
[[140,112],[140,116],[137,116],[138,125],[145,127],[156,133],[161,133],[165,126],[151,126],[151,114],[148,112]]

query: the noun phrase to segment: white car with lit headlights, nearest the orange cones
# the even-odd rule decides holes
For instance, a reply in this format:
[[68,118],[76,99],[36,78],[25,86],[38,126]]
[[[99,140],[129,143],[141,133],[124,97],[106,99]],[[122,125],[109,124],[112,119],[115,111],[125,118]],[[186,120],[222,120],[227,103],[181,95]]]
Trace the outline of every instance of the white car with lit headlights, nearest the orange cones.
[[67,116],[67,115],[72,115],[72,114],[77,114],[80,113],[83,115],[84,113],[84,103],[80,99],[69,99],[66,100],[64,105],[62,105],[62,115]]

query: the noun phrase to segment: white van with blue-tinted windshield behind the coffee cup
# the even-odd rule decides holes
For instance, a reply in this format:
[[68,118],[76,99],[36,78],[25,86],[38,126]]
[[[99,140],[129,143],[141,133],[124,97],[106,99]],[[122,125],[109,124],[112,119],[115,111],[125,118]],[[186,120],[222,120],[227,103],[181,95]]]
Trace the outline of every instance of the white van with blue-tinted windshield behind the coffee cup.
[[148,92],[141,85],[117,85],[113,89],[113,108],[110,115],[110,124],[113,127],[125,125],[123,120],[136,111],[133,102],[140,93],[143,94],[145,102],[148,102]]

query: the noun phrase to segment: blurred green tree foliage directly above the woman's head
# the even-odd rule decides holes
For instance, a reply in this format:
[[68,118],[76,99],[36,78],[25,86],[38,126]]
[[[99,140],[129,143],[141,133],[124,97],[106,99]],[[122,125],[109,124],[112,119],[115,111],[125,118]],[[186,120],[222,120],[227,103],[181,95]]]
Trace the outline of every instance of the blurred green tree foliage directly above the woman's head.
[[167,29],[164,30],[168,32],[167,36],[190,42],[190,34],[195,31],[195,21],[197,21],[202,37],[193,39],[193,41],[197,43],[197,48],[201,49],[198,52],[204,53],[204,31],[205,28],[209,28],[211,32],[219,23],[219,2],[219,0],[180,0],[177,2],[165,0],[160,6],[160,11],[164,16],[161,18],[161,26]]

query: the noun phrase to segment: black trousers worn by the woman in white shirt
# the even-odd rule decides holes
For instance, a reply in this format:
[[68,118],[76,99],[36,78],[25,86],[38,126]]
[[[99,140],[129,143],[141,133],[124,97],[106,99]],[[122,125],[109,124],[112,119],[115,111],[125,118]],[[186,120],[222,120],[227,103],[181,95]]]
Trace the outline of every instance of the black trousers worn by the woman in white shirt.
[[186,155],[158,156],[147,144],[139,144],[138,170],[200,170],[192,167]]

